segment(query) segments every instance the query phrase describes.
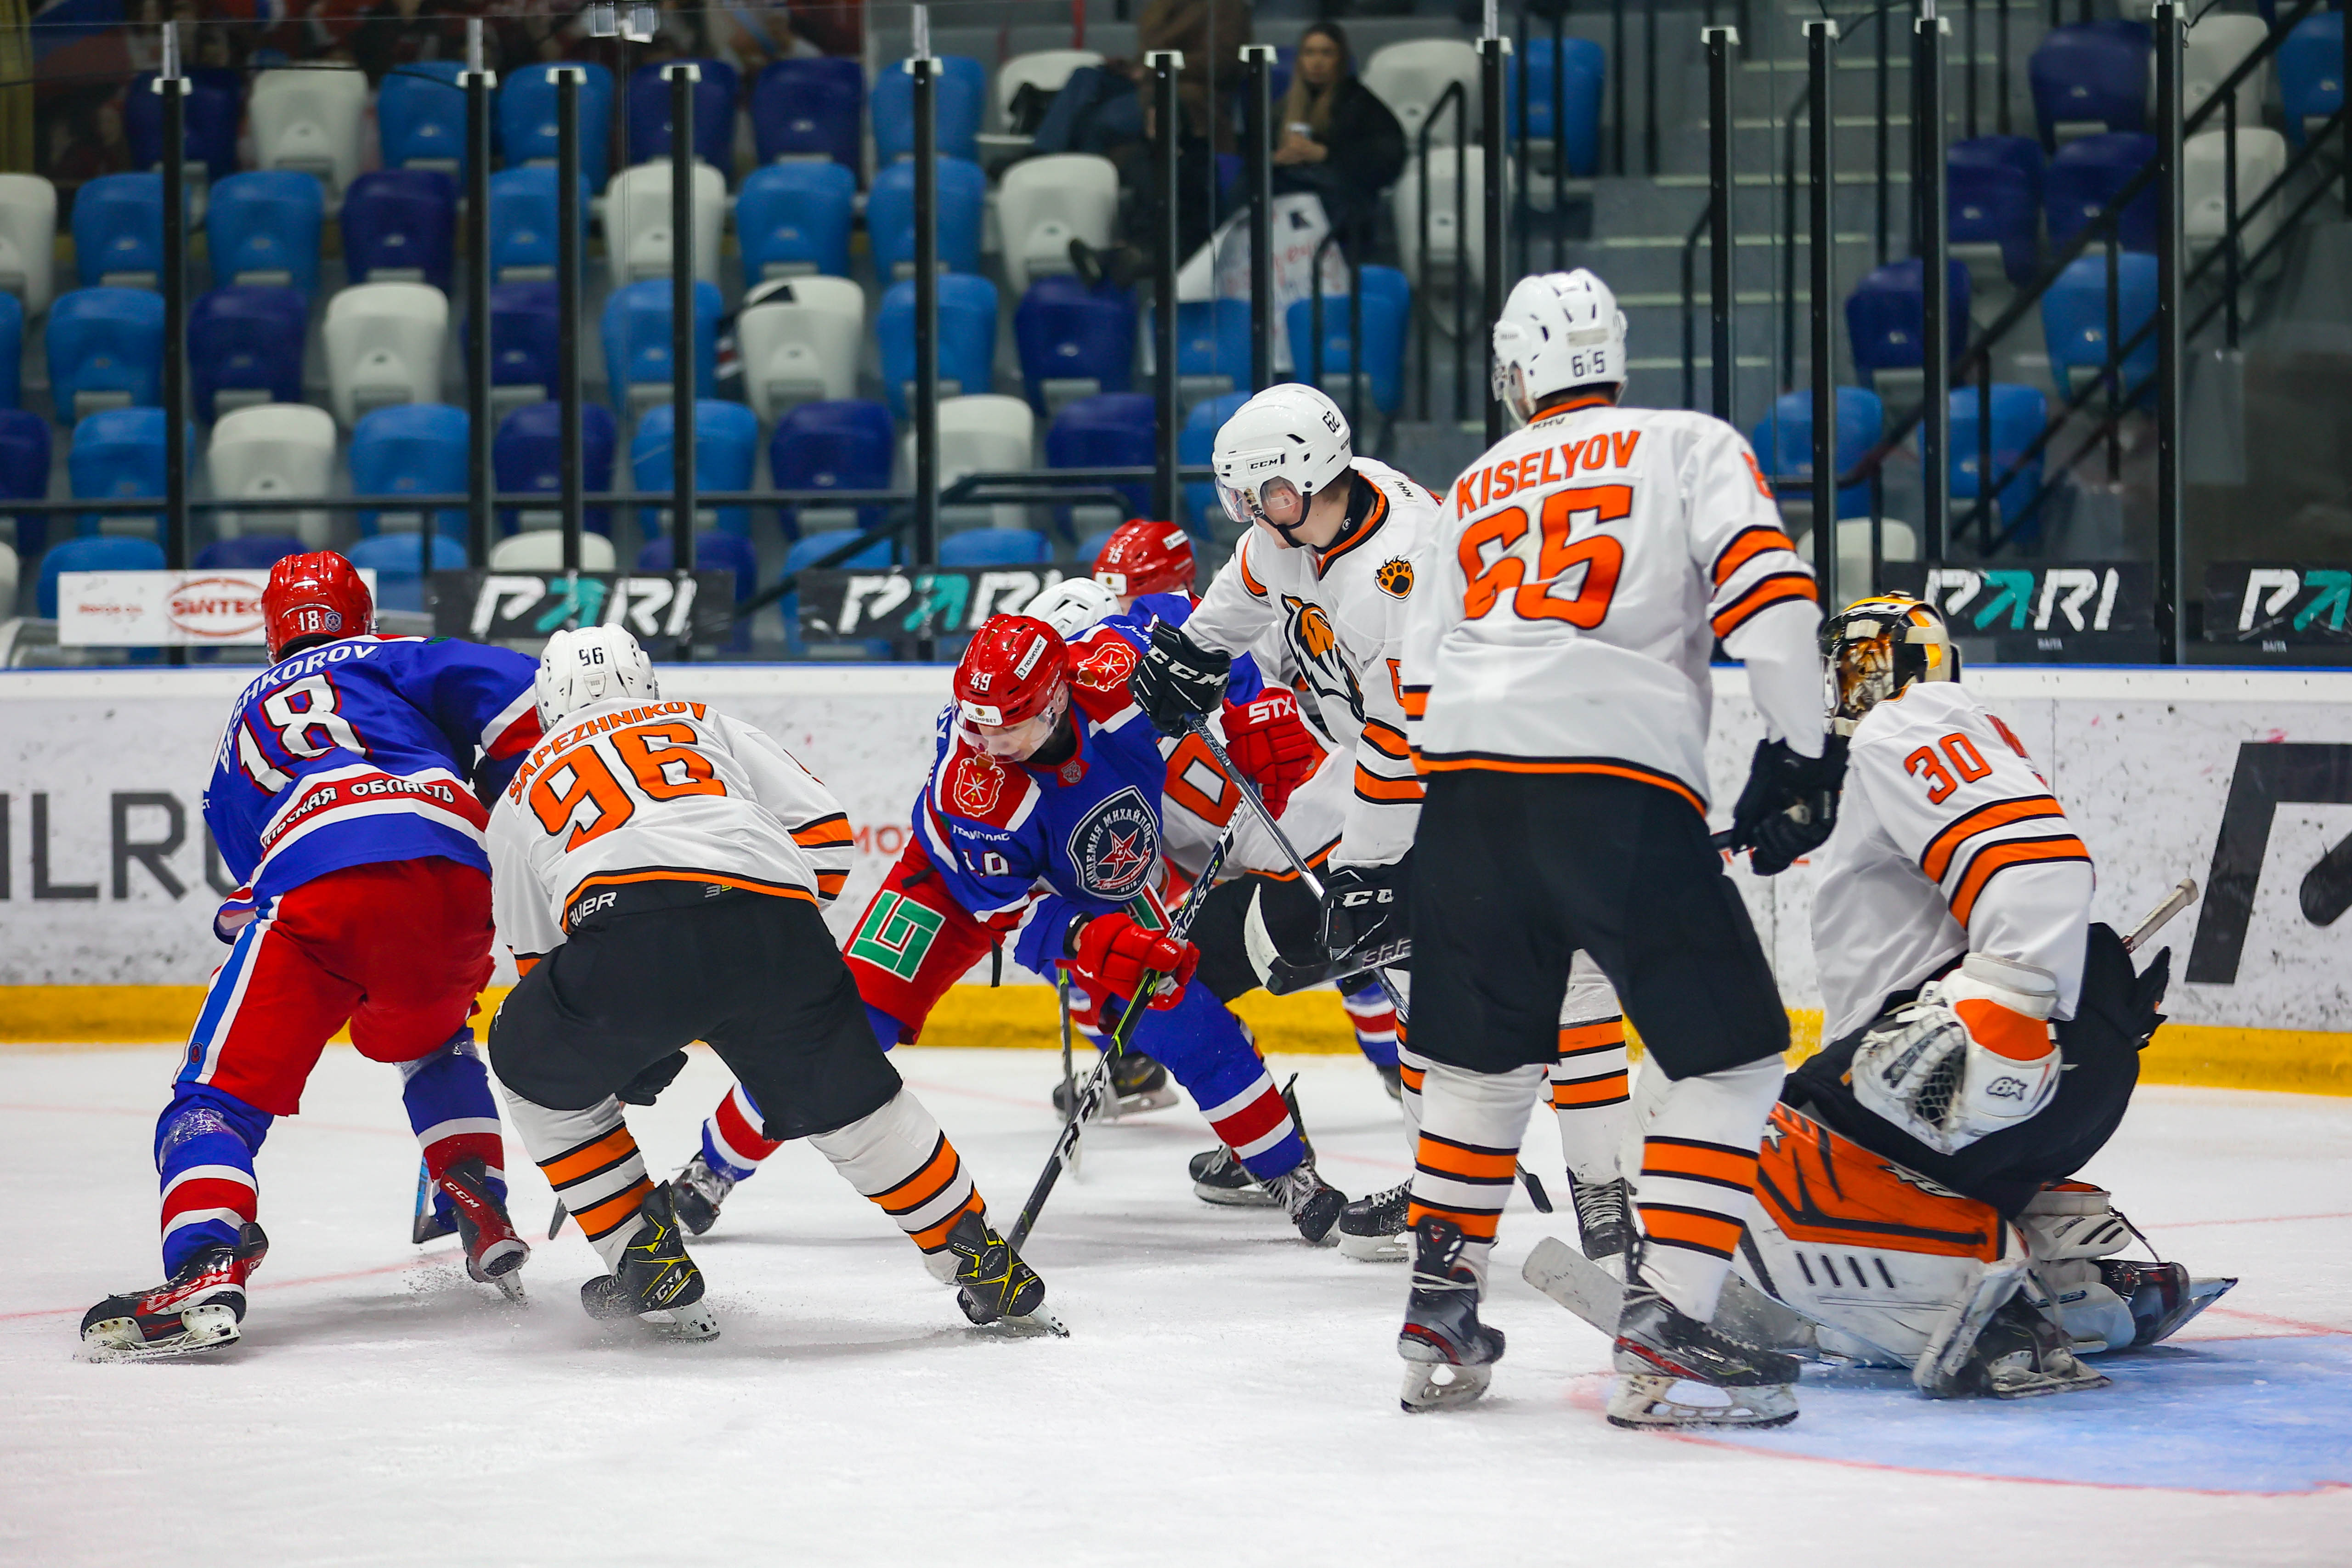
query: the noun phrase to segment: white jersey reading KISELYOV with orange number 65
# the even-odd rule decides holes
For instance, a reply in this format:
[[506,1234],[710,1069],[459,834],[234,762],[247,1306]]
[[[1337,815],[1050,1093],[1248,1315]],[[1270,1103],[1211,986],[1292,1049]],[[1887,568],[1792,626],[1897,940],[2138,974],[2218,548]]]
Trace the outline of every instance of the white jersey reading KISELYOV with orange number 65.
[[1644,778],[1705,811],[1715,637],[1766,731],[1818,755],[1818,621],[1738,430],[1573,402],[1444,498],[1404,649],[1414,750],[1425,771]]

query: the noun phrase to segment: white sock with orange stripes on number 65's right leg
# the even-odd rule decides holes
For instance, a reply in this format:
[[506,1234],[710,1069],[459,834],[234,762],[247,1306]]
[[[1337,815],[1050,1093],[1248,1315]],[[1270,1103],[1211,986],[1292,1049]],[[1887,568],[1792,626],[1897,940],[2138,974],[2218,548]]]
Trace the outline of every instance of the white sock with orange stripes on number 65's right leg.
[[1642,1131],[1642,1171],[1632,1185],[1642,1227],[1637,1267],[1677,1312],[1700,1324],[1715,1316],[1715,1298],[1748,1227],[1757,1143],[1783,1077],[1780,1058],[1764,1056],[1672,1079]]

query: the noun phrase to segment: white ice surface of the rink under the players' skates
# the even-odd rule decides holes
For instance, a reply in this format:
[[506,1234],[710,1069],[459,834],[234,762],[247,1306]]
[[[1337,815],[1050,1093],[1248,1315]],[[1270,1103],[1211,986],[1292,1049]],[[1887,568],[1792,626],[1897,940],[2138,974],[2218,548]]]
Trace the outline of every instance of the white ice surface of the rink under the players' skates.
[[[901,1051],[1000,1220],[1054,1138],[1058,1063]],[[1564,1215],[1515,1206],[1482,1406],[1397,1410],[1404,1274],[1200,1204],[1190,1107],[1103,1126],[1030,1246],[1070,1340],[967,1328],[908,1244],[804,1147],[694,1246],[713,1345],[576,1302],[595,1258],[510,1145],[529,1307],[407,1246],[416,1147],[388,1067],[327,1051],[261,1154],[270,1258],[209,1361],[85,1366],[82,1309],[153,1284],[167,1048],[0,1053],[5,1563],[2347,1563],[2352,1100],[2150,1088],[2089,1175],[2199,1274],[2241,1274],[2117,1387],[1929,1406],[1802,1392],[1785,1434],[1628,1434],[1604,1340],[1519,1284]],[[1357,1060],[1298,1058],[1324,1168],[1402,1178]],[[633,1112],[673,1168],[724,1084]],[[1557,1168],[1534,1126],[1531,1164]],[[2216,1415],[2218,1413],[2218,1415]],[[2225,1418],[2225,1420],[2223,1420]],[[1983,1472],[2046,1472],[2020,1486]]]

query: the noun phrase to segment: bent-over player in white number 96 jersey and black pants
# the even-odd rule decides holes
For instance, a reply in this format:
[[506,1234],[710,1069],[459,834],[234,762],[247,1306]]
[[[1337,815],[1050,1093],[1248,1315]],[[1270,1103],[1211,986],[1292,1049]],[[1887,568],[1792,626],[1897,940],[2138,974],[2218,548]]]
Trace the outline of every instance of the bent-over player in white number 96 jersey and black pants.
[[767,1135],[814,1143],[955,1279],[964,1316],[1037,1312],[1044,1284],[882,1056],[818,914],[849,872],[840,802],[750,724],[661,701],[619,625],[548,639],[539,715],[546,738],[489,827],[499,936],[524,971],[489,1058],[524,1147],[604,1258],[581,1305],[717,1333],[670,1185],[647,1180],[621,1114],[703,1039],[757,1095]]

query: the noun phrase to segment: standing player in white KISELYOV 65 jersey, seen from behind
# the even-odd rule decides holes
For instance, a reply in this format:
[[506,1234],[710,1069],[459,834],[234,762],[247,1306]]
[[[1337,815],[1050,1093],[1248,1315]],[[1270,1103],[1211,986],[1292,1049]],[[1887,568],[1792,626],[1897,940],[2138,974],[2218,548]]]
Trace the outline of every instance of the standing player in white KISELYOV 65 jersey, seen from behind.
[[1715,639],[1764,712],[1733,844],[1783,870],[1835,818],[1813,576],[1740,435],[1621,409],[1625,317],[1592,273],[1522,280],[1494,327],[1524,428],[1446,494],[1404,646],[1428,776],[1414,1048],[1428,1058],[1397,1349],[1404,1406],[1475,1399],[1503,1354],[1486,1255],[1578,950],[1665,1091],[1635,1187],[1616,1425],[1778,1425],[1795,1359],[1710,1328],[1780,1088],[1788,1016],[1708,837]]

